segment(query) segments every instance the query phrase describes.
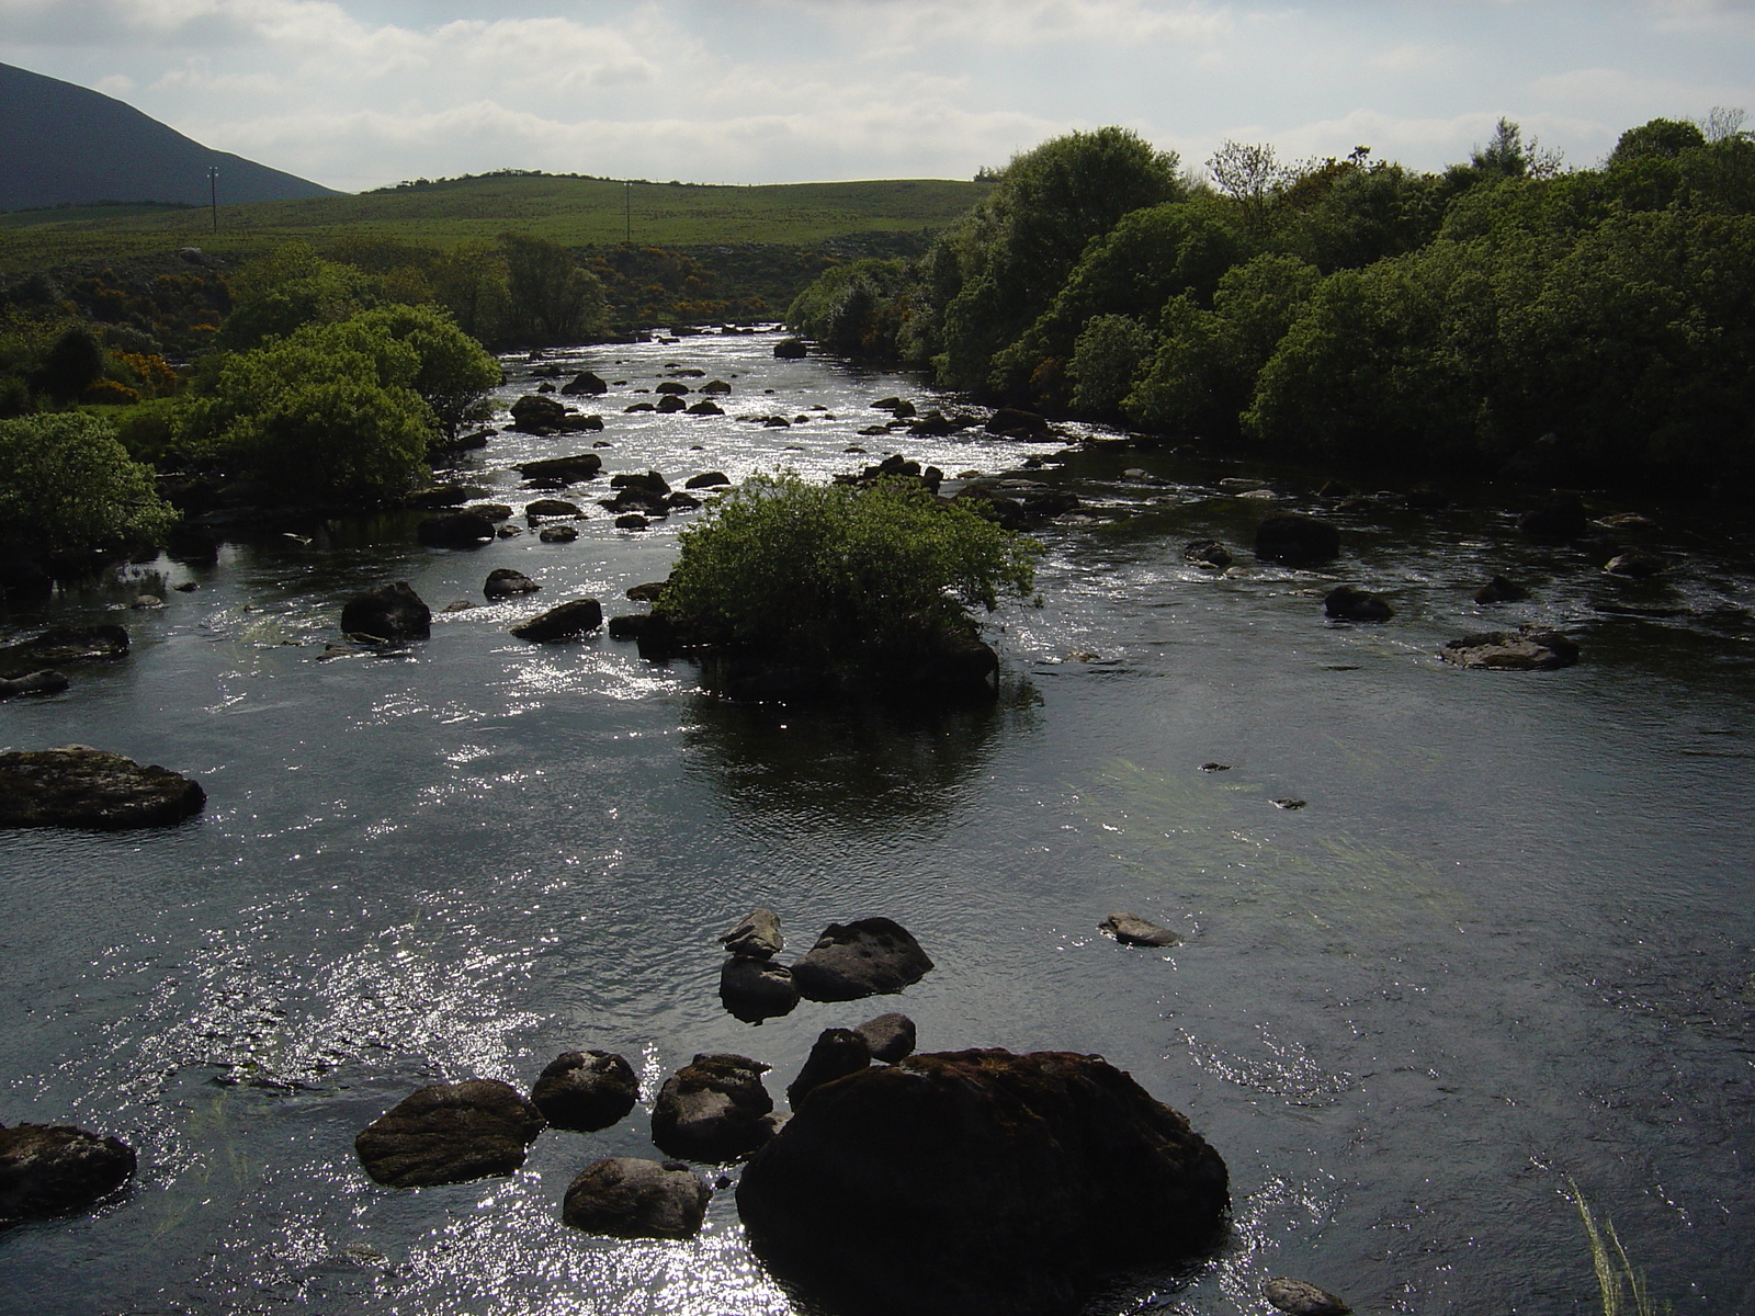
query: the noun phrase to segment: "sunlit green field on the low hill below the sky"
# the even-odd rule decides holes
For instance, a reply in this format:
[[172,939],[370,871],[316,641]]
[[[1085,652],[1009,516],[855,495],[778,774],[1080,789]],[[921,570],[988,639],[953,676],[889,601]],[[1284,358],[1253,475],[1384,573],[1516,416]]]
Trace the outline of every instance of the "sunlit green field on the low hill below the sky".
[[426,246],[493,239],[507,230],[570,247],[639,244],[697,247],[762,242],[816,246],[851,233],[944,228],[988,193],[985,182],[886,179],[706,186],[555,175],[486,175],[293,202],[205,209],[140,205],[0,214],[0,270],[125,260],[167,246],[256,251],[305,239],[395,237]]

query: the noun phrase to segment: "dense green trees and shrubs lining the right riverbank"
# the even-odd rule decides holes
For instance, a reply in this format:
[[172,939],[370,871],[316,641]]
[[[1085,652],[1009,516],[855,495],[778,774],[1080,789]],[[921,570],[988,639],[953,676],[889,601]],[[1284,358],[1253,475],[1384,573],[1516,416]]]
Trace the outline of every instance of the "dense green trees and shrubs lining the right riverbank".
[[930,251],[792,326],[983,400],[1364,468],[1755,477],[1755,140],[1653,119],[1597,168],[1501,121],[1422,174],[1358,147],[1206,177],[1121,128],[1020,154]]

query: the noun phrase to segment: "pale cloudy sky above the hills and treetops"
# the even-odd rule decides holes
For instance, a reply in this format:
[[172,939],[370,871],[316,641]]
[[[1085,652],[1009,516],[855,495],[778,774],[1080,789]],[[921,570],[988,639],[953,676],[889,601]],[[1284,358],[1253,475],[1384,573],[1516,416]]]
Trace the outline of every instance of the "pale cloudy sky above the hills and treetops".
[[1506,116],[1595,165],[1755,121],[1755,0],[0,0],[0,63],[342,191],[971,177],[1107,123],[1439,168]]

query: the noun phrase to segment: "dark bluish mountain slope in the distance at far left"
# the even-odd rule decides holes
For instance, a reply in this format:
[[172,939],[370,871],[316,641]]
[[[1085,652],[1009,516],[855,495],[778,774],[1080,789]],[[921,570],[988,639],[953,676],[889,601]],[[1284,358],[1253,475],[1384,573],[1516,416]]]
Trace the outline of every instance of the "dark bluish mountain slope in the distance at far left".
[[91,202],[284,202],[340,193],[212,151],[100,91],[0,63],[0,211]]

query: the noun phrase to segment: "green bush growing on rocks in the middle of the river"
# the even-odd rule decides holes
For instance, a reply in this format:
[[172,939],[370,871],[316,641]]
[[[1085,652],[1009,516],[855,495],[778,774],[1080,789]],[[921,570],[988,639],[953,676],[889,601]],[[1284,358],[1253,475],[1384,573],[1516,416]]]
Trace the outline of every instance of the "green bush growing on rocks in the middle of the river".
[[734,644],[860,663],[1028,597],[1041,547],[925,486],[755,476],[679,535],[660,609]]

